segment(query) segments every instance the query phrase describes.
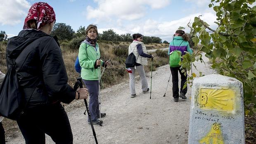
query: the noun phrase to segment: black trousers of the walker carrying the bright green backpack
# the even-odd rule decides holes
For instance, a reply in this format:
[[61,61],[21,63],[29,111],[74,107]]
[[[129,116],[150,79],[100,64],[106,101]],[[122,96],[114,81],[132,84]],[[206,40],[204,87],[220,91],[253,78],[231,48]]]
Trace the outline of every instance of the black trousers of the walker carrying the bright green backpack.
[[[179,77],[178,77],[178,72],[180,73],[180,92],[183,94],[187,93],[187,87],[183,89],[184,84],[187,81],[187,74],[185,73],[187,70],[185,69],[185,72],[182,73],[182,69],[180,69],[180,66],[178,67],[170,67],[171,69],[171,75],[172,75],[172,81],[173,81],[173,97],[177,98],[179,97]],[[185,75],[184,75],[185,74]]]

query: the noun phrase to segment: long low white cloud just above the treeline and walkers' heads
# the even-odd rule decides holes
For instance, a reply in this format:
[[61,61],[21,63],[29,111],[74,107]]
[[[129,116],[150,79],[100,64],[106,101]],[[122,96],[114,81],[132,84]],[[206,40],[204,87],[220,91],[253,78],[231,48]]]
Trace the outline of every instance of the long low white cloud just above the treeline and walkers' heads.
[[[206,12],[204,14],[191,14],[187,17],[183,17],[174,21],[159,22],[152,19],[147,19],[146,21],[141,22],[140,25],[133,23],[123,26],[122,28],[116,27],[111,29],[113,29],[114,32],[118,33],[119,35],[125,33],[141,33],[142,35],[146,36],[160,37],[163,41],[171,41],[173,38],[173,33],[175,33],[175,31],[180,26],[187,27],[187,23],[190,21],[192,24],[194,17],[198,17],[199,15],[202,15],[200,19],[208,23],[211,28],[216,29],[217,25],[214,23],[214,21],[216,21],[216,15],[210,12]],[[107,31],[108,29],[109,28],[99,29],[99,33],[102,33],[102,31]],[[186,28],[185,32],[189,33],[190,29]]]

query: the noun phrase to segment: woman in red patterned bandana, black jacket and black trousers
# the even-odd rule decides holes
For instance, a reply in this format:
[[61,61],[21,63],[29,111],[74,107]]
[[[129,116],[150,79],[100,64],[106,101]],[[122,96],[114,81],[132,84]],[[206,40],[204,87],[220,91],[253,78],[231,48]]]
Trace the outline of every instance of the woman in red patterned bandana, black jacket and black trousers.
[[10,38],[7,68],[16,62],[19,86],[24,92],[25,114],[17,120],[26,144],[44,144],[45,134],[56,144],[72,144],[69,118],[60,102],[86,99],[88,90],[78,91],[67,83],[62,52],[50,33],[55,12],[45,2],[31,6],[19,35]]

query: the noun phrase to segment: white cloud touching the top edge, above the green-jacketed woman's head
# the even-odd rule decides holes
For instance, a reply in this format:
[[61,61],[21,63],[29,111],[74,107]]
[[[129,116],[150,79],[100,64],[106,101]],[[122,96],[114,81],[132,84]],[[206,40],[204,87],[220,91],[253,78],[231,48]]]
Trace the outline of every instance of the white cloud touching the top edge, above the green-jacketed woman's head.
[[85,16],[87,19],[106,21],[110,17],[125,20],[136,20],[145,16],[147,7],[160,9],[166,7],[171,0],[94,0],[98,7],[86,7]]

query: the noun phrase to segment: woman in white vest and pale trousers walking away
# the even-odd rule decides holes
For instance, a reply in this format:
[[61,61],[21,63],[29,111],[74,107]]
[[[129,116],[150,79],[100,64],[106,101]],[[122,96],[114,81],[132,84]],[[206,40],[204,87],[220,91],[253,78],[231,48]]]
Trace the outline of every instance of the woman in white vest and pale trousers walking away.
[[132,70],[132,73],[129,73],[130,77],[130,97],[135,97],[135,70],[140,75],[140,81],[141,81],[141,89],[143,93],[149,92],[149,88],[147,87],[147,78],[145,76],[145,71],[143,66],[147,66],[147,58],[153,58],[153,55],[147,54],[147,49],[145,44],[142,42],[142,34],[135,33],[132,35],[133,42],[129,46],[129,52],[133,52],[133,54],[136,57],[136,63],[135,67],[130,68]]

